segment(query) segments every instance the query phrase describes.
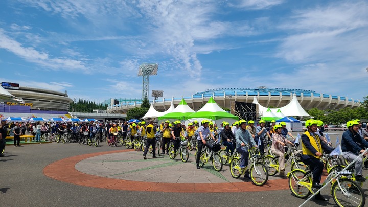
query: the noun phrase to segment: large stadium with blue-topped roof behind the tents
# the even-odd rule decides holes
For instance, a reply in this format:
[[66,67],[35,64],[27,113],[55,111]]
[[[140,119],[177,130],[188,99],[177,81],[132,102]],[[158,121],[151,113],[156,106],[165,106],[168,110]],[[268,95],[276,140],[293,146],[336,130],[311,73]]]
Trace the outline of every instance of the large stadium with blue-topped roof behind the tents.
[[[267,88],[260,86],[258,88],[216,88],[208,89],[203,92],[197,92],[191,97],[180,97],[151,101],[154,108],[158,111],[167,110],[171,103],[176,107],[181,98],[184,98],[187,104],[195,111],[200,106],[204,105],[210,97],[213,97],[216,103],[225,108],[231,108],[232,101],[252,103],[254,97],[257,98],[259,104],[264,107],[279,108],[287,105],[293,94],[296,95],[298,102],[305,109],[318,108],[320,110],[326,109],[341,109],[341,108],[355,108],[360,106],[360,101],[348,97],[335,96],[329,94],[317,93],[314,90],[291,89],[291,88]],[[113,100],[113,99],[111,99]],[[141,100],[129,101],[129,99],[118,99],[119,104],[111,104],[113,101],[105,103],[108,113],[126,113],[130,108],[140,106]]]

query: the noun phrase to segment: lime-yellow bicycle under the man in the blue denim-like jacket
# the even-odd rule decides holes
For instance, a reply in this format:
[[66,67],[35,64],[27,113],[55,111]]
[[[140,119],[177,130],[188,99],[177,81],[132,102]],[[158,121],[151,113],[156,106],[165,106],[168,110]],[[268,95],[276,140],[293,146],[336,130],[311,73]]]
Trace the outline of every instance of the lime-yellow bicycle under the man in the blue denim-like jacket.
[[[248,146],[243,147],[248,150]],[[246,159],[246,158],[245,158]],[[266,165],[262,163],[263,156],[254,154],[250,158],[250,162],[245,168],[240,167],[240,158],[233,157],[230,161],[230,173],[232,177],[239,178],[241,175],[245,175],[249,169],[250,180],[256,186],[263,186],[268,181],[268,170]]]

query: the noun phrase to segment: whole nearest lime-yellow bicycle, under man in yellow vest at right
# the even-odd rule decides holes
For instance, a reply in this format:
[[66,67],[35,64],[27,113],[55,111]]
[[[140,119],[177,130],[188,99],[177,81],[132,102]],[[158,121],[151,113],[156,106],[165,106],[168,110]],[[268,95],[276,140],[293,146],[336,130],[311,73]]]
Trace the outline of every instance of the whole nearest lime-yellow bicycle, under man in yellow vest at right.
[[[326,159],[332,159],[333,157],[327,154],[323,154]],[[331,183],[331,195],[338,206],[364,206],[365,194],[362,188],[351,179],[352,175],[349,171],[342,171],[343,167],[336,166],[330,170],[325,181],[321,184],[325,186],[327,183]],[[338,175],[336,177],[336,175]],[[307,198],[310,194],[314,194],[318,191],[312,187],[313,174],[309,171],[302,169],[295,169],[288,173],[289,188],[291,193],[298,198]],[[334,179],[333,179],[334,178]]]

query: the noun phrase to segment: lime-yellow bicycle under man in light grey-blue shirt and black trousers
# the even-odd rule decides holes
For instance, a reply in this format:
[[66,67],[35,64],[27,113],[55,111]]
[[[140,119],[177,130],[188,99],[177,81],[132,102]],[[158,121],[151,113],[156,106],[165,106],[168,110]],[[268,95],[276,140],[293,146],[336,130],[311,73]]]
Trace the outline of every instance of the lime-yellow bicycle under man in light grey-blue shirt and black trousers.
[[[199,167],[203,167],[208,161],[212,158],[212,166],[216,171],[222,170],[222,159],[220,157],[219,151],[221,150],[221,145],[214,144],[216,141],[209,141],[213,144],[213,149],[210,151],[210,149],[203,145],[202,147],[202,153],[199,157]],[[194,154],[195,157],[197,157],[198,151]]]

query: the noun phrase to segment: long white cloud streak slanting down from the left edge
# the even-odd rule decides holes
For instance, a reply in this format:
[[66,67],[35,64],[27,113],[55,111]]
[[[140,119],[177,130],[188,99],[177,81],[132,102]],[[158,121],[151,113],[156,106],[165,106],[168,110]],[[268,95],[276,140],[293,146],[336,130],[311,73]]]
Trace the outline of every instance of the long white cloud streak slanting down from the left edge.
[[0,29],[0,48],[8,50],[15,55],[33,63],[51,69],[85,70],[84,63],[63,57],[51,58],[46,52],[39,52],[32,47],[24,47],[21,43],[7,36]]

